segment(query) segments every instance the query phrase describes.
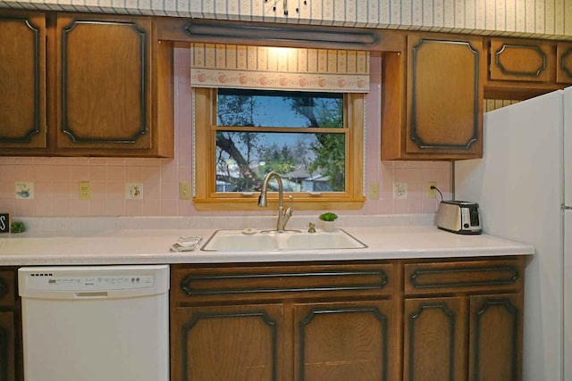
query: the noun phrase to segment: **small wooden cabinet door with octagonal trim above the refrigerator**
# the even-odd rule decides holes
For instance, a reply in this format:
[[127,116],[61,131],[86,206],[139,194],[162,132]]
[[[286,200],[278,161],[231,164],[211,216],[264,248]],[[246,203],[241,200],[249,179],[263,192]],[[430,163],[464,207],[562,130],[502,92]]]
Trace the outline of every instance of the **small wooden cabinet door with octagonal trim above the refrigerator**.
[[551,80],[554,54],[548,42],[492,38],[490,54],[491,79]]

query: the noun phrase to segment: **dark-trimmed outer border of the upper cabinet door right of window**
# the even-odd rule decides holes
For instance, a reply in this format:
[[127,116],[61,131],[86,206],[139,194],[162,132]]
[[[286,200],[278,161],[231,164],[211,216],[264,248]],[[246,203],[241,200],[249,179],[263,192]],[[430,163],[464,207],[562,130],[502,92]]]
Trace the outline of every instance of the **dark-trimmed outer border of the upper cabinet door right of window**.
[[416,120],[416,99],[417,99],[417,90],[416,90],[416,66],[417,66],[417,54],[419,53],[419,49],[421,49],[424,44],[426,43],[439,43],[439,44],[457,44],[457,45],[464,45],[467,46],[469,51],[475,55],[475,72],[474,72],[474,94],[475,99],[473,101],[474,110],[479,110],[479,87],[481,86],[480,83],[480,70],[479,70],[479,63],[480,63],[480,55],[478,49],[471,44],[470,41],[454,41],[454,40],[436,40],[433,38],[421,38],[419,42],[412,47],[411,54],[412,54],[412,93],[413,96],[411,98],[411,125],[410,125],[410,138],[416,143],[419,148],[422,149],[462,149],[468,150],[470,149],[471,145],[475,144],[479,138],[479,116],[478,112],[475,112],[473,116],[473,136],[469,137],[467,142],[461,145],[457,144],[428,144],[423,141],[421,137],[418,136],[416,128],[417,128],[417,120]]

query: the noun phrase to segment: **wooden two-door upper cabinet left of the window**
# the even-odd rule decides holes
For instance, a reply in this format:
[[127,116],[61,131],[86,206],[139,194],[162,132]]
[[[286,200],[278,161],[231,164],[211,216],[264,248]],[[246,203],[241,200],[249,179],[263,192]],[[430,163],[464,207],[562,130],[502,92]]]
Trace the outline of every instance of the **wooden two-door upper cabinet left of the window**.
[[150,17],[0,15],[0,154],[172,157],[172,42]]

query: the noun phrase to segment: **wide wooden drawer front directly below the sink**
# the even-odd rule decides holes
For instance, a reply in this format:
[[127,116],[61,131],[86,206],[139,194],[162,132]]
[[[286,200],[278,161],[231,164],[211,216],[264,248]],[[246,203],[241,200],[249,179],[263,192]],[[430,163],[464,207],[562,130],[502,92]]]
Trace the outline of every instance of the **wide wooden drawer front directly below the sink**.
[[388,295],[392,265],[174,269],[174,301],[282,299],[285,295]]

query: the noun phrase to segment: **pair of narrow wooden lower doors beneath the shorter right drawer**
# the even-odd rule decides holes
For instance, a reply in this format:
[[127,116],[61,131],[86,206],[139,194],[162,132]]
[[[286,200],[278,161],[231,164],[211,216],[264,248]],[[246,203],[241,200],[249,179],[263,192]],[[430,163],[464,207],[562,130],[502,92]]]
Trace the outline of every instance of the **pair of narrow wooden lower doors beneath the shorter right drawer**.
[[522,294],[406,300],[404,379],[519,380],[522,309]]

